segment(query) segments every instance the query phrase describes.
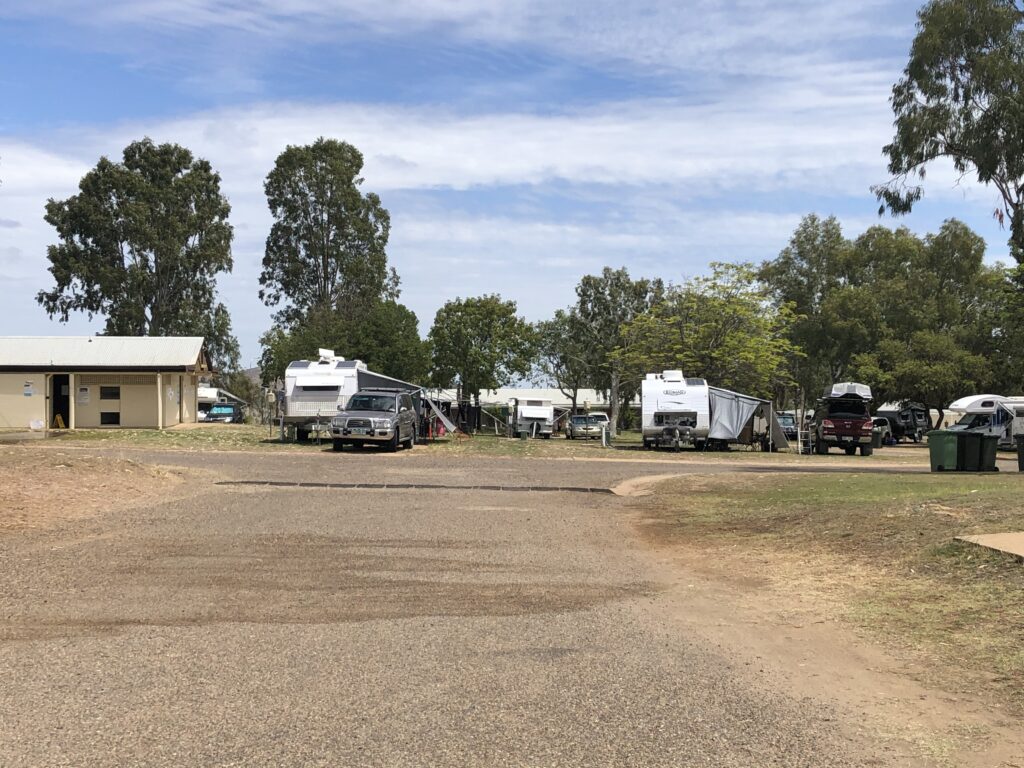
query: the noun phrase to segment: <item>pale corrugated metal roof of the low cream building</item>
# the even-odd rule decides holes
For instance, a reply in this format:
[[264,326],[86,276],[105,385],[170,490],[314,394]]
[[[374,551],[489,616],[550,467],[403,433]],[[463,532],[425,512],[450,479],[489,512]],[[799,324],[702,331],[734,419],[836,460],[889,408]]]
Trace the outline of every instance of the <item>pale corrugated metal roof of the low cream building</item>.
[[202,336],[0,336],[0,370],[182,369],[202,350]]

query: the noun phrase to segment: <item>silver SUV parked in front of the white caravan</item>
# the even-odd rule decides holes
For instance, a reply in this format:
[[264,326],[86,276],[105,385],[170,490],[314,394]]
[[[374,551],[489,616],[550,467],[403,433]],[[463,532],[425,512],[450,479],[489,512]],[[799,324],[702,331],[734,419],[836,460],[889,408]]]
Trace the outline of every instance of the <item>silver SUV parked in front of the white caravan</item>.
[[383,445],[397,451],[398,445],[416,444],[416,409],[409,392],[396,389],[360,389],[347,408],[331,420],[331,439],[335,451],[349,445]]

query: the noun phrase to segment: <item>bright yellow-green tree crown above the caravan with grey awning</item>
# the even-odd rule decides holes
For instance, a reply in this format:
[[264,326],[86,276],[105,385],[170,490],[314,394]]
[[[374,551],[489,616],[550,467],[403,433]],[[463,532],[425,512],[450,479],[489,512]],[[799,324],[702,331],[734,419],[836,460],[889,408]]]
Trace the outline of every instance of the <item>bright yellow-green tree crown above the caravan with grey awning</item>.
[[670,288],[626,324],[617,353],[631,378],[682,369],[716,386],[770,397],[788,382],[798,354],[788,305],[773,306],[751,264],[712,264],[709,278]]

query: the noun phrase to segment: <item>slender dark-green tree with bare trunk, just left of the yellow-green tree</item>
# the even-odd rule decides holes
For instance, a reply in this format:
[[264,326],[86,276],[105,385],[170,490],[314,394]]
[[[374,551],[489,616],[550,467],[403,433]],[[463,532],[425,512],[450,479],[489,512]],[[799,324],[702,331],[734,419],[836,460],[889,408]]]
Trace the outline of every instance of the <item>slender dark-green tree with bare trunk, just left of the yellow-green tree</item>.
[[660,280],[633,280],[625,267],[604,267],[600,274],[587,274],[577,286],[575,312],[586,340],[594,382],[608,392],[612,436],[618,425],[624,399],[632,399],[639,379],[624,381],[622,355],[628,337],[624,327],[662,298]]

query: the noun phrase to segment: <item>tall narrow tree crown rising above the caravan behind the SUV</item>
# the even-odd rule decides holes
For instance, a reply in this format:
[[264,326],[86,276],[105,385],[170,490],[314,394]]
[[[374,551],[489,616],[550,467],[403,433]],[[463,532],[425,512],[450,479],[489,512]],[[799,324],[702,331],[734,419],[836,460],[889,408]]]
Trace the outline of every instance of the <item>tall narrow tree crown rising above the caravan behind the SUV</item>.
[[322,137],[288,146],[267,175],[273,225],[259,296],[267,306],[284,303],[280,322],[325,307],[357,314],[397,297],[386,254],[391,220],[377,195],[359,190],[361,170],[358,150]]

